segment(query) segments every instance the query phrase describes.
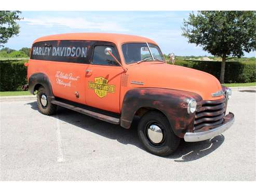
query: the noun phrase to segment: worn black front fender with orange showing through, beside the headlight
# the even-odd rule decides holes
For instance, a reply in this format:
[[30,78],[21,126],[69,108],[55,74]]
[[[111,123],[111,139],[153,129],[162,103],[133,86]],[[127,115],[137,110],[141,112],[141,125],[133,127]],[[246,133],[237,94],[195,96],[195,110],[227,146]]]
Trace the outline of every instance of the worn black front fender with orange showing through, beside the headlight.
[[195,113],[187,113],[187,103],[191,99],[202,100],[192,92],[164,88],[134,88],[126,92],[120,125],[130,128],[134,115],[141,107],[150,107],[164,113],[173,132],[180,138],[185,132],[193,131]]

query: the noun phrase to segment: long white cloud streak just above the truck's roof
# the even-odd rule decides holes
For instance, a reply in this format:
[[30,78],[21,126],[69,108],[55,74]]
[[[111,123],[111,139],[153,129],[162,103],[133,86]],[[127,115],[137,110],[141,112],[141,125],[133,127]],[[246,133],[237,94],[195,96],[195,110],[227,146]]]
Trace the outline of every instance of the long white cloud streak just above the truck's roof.
[[116,22],[91,22],[84,18],[64,18],[64,17],[41,17],[41,18],[24,18],[22,22],[29,25],[43,25],[46,27],[53,26],[65,26],[71,29],[83,29],[83,30],[100,30],[100,31],[115,31],[125,32],[129,31],[122,28]]

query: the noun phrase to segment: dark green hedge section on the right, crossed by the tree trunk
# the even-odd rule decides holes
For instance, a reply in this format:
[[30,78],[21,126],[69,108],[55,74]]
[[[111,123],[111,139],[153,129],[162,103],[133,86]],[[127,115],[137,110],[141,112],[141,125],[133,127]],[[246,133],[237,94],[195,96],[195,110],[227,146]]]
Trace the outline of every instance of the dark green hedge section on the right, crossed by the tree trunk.
[[[195,68],[220,78],[220,61],[176,60],[176,65]],[[227,61],[225,66],[225,83],[250,83],[256,81],[256,63]]]

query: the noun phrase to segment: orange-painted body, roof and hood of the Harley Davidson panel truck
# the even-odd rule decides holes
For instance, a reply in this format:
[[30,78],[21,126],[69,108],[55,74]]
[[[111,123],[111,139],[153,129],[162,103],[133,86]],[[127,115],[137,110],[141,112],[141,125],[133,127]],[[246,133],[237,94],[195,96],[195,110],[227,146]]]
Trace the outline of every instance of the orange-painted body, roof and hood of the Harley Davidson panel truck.
[[[199,94],[203,100],[218,100],[211,93],[222,90],[214,76],[187,67],[169,65],[159,61],[126,64],[122,53],[124,43],[151,43],[149,38],[106,33],[71,33],[50,35],[34,41],[49,40],[91,40],[111,42],[116,46],[122,66],[98,65],[91,63],[71,63],[30,59],[28,79],[34,73],[48,76],[55,97],[101,108],[106,111],[120,113],[125,93],[133,88],[166,88],[190,91]],[[92,54],[88,51],[87,54]],[[127,85],[121,85],[122,76],[128,75]],[[131,84],[131,81],[143,85]],[[79,97],[76,97],[76,92]],[[160,98],[159,98],[160,99]]]

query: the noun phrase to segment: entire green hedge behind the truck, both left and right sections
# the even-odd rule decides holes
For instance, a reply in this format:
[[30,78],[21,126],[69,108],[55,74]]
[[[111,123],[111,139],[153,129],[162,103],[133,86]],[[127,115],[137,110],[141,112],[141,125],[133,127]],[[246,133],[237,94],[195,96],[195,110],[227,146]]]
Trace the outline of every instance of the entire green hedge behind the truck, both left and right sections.
[[[0,91],[19,91],[26,84],[26,67],[28,60],[0,61]],[[176,60],[176,65],[195,68],[210,73],[219,79],[221,62]],[[256,81],[255,62],[226,62],[225,83],[249,83]]]

